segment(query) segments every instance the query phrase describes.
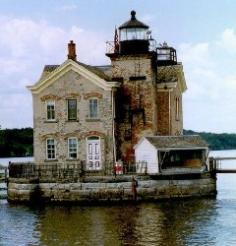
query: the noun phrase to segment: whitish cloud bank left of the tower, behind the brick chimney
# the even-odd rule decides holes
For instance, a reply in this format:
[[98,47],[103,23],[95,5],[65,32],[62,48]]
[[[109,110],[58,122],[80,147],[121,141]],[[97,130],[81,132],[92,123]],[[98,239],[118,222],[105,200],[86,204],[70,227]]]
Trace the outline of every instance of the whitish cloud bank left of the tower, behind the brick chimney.
[[39,79],[45,64],[65,61],[70,40],[77,43],[80,61],[106,63],[106,35],[78,26],[65,29],[46,21],[0,16],[0,37],[2,128],[32,126],[31,96],[25,87]]

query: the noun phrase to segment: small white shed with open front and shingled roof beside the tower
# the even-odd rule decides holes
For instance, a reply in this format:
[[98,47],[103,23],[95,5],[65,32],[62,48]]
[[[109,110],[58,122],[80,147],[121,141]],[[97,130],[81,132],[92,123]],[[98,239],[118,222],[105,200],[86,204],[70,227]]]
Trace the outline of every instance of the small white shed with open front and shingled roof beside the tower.
[[134,146],[137,172],[158,174],[191,172],[207,168],[208,144],[198,135],[148,136]]

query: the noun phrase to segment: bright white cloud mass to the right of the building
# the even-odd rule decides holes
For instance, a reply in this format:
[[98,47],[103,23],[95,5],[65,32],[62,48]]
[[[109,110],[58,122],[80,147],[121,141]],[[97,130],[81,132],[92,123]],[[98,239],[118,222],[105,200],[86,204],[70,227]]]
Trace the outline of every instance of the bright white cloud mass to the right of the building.
[[184,127],[236,132],[236,70],[228,52],[236,51],[235,30],[217,40],[179,45],[188,91],[184,95]]

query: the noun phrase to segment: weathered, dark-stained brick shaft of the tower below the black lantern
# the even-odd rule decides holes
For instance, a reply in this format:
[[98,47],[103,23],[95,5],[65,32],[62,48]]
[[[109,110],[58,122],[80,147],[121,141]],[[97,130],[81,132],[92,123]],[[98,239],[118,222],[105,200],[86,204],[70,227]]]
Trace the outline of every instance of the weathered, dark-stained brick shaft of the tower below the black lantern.
[[118,158],[134,160],[133,146],[144,135],[157,131],[156,71],[153,56],[130,55],[112,58],[112,76],[123,78],[117,93],[116,141]]

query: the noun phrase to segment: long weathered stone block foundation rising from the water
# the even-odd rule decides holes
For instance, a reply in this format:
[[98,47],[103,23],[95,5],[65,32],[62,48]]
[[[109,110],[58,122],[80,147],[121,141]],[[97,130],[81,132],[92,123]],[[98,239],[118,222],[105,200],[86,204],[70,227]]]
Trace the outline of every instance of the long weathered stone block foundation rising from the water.
[[[210,173],[136,176],[137,200],[201,197],[216,195],[216,178]],[[134,199],[132,176],[85,177],[78,182],[43,182],[10,178],[9,202],[99,202]]]

